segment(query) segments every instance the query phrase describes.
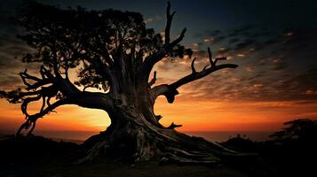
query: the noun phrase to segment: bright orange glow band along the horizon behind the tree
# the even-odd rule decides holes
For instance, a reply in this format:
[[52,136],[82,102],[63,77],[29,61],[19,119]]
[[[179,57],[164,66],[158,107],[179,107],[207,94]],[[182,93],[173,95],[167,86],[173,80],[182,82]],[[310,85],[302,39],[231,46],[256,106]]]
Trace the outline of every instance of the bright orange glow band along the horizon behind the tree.
[[[0,100],[0,106],[0,130],[15,131],[24,121],[20,105]],[[169,126],[171,122],[183,125],[178,128],[179,131],[275,131],[291,119],[316,119],[316,108],[316,104],[296,102],[233,103],[190,100],[179,96],[174,104],[168,104],[164,97],[159,97],[155,113],[162,115],[164,126]],[[101,110],[66,105],[58,108],[57,112],[39,119],[36,130],[99,132],[111,123],[107,112]]]

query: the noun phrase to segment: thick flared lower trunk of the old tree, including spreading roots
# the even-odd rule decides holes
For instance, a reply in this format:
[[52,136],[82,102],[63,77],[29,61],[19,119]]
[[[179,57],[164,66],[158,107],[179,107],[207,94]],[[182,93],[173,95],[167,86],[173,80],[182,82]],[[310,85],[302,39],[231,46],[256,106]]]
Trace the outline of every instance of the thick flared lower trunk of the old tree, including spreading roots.
[[151,120],[158,121],[153,106],[148,106],[147,102],[137,107],[134,104],[116,106],[111,112],[108,111],[112,120],[110,127],[83,143],[87,154],[79,162],[110,158],[136,162],[158,159],[181,163],[215,163],[221,156],[235,155],[233,150],[227,150],[216,142],[152,123]]

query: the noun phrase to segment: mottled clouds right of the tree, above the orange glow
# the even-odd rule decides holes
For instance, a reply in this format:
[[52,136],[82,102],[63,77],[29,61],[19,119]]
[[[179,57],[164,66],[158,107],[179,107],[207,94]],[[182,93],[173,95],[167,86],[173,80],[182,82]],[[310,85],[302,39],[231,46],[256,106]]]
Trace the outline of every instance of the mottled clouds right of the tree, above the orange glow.
[[[250,35],[242,36],[246,31]],[[179,89],[180,99],[186,96],[186,99],[233,102],[317,101],[316,28],[250,27],[235,33],[239,35],[221,32],[218,36],[227,37],[222,42],[210,43],[213,53],[230,56],[228,62],[240,67],[218,71],[183,86]],[[197,67],[208,64],[206,50],[195,50],[194,56],[199,58]],[[183,72],[190,71],[190,61],[186,60]]]

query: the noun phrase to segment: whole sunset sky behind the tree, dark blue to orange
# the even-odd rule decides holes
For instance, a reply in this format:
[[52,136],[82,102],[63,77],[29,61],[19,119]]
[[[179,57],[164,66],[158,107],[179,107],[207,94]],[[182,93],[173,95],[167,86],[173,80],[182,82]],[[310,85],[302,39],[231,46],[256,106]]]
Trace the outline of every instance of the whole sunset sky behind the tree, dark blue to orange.
[[[60,8],[81,5],[87,9],[141,12],[147,27],[157,33],[165,27],[166,1],[39,1]],[[8,18],[21,1],[0,1],[0,90],[22,87],[20,62],[28,50],[16,39],[19,27]],[[160,97],[155,113],[161,123],[182,124],[181,131],[274,131],[282,122],[317,119],[317,4],[313,1],[181,1],[171,36],[187,28],[183,44],[194,50],[197,68],[208,64],[207,47],[240,65],[221,70],[178,89],[174,104]],[[191,72],[190,58],[163,60],[155,66],[158,81],[171,83]],[[75,81],[75,74],[72,74]],[[34,109],[36,105],[33,106]],[[32,108],[33,108],[32,107]],[[78,106],[63,106],[39,119],[36,130],[101,131],[109,124],[107,113]],[[0,99],[0,131],[14,132],[24,121],[20,104]]]

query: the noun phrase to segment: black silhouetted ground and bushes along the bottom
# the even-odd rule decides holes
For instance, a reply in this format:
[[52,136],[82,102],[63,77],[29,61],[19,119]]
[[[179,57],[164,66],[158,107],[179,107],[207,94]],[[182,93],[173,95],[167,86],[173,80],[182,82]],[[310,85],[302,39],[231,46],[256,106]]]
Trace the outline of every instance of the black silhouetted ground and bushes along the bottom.
[[133,163],[100,160],[76,165],[83,145],[57,142],[41,136],[0,138],[0,177],[3,176],[317,176],[317,124],[297,119],[272,136],[253,142],[237,135],[222,144],[256,158],[224,160],[213,165],[184,165],[157,161]]

